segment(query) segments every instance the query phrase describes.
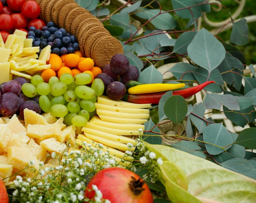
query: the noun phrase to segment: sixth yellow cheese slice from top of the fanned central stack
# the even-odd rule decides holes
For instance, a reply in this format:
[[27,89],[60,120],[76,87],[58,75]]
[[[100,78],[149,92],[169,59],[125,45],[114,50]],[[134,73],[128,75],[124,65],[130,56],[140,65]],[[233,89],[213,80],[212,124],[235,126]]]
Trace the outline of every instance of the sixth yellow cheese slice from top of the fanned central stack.
[[[139,135],[139,132],[137,130],[134,131],[134,130],[113,129],[113,128],[109,128],[109,127],[102,127],[102,126],[99,126],[99,125],[94,125],[90,122],[87,122],[85,127],[88,127],[88,128],[94,129],[94,130],[100,130],[102,132],[112,133],[112,134],[115,134],[115,135],[127,135],[127,136]],[[82,128],[82,131],[84,131],[85,127]]]

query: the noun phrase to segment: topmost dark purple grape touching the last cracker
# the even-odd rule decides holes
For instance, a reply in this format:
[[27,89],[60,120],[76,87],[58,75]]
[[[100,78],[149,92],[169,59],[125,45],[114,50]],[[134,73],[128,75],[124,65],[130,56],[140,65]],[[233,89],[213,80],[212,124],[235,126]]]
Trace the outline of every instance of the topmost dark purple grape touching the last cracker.
[[111,58],[109,65],[112,73],[121,76],[128,70],[129,60],[124,54],[118,53]]

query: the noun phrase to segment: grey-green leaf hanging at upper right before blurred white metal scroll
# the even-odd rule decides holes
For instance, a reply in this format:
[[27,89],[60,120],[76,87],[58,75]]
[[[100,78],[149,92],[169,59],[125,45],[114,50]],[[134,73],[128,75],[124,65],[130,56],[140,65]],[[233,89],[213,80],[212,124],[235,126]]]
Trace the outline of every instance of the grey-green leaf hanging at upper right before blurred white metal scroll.
[[244,46],[249,42],[249,27],[245,18],[242,18],[240,21],[233,22],[233,28],[230,36],[230,42]]

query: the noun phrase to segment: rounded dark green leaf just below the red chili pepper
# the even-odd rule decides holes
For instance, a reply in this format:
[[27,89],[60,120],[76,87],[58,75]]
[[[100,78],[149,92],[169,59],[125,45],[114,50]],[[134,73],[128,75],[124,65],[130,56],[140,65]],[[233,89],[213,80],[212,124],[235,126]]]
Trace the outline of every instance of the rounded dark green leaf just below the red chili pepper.
[[186,101],[180,95],[171,96],[164,104],[164,113],[173,123],[179,124],[188,112]]

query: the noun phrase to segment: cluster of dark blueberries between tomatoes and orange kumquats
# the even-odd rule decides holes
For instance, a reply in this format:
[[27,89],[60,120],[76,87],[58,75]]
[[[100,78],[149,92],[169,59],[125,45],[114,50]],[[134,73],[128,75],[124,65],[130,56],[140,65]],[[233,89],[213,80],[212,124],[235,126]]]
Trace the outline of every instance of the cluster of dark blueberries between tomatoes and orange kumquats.
[[51,53],[58,55],[75,53],[80,50],[77,38],[65,29],[55,27],[54,22],[48,22],[42,30],[37,30],[34,26],[29,27],[27,35],[27,38],[33,39],[33,47],[40,46],[40,52],[47,45],[51,45]]

